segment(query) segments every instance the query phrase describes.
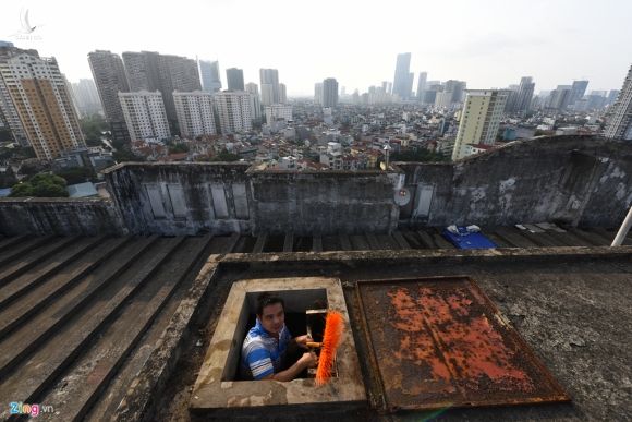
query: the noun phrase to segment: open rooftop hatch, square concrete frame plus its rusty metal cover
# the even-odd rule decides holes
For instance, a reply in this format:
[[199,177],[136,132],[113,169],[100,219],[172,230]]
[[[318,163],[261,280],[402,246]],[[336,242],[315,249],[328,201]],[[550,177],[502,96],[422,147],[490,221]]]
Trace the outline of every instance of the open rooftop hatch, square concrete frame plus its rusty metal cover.
[[[337,376],[328,385],[316,387],[309,378],[290,383],[236,378],[241,343],[253,323],[255,298],[263,291],[282,297],[288,315],[304,318],[314,303],[325,302],[342,311],[348,335],[338,352]],[[469,277],[358,281],[356,294],[362,328],[355,335],[364,336],[368,345],[366,364],[379,379],[381,410],[569,400]],[[235,282],[195,383],[192,411],[235,415],[240,409],[260,407],[367,406],[350,329],[336,278]]]

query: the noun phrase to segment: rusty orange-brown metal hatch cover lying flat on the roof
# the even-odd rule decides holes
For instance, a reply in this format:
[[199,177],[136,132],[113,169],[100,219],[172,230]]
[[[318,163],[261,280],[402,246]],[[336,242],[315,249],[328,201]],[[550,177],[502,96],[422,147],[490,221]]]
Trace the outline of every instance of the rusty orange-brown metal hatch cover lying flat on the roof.
[[388,411],[568,401],[469,277],[357,282]]

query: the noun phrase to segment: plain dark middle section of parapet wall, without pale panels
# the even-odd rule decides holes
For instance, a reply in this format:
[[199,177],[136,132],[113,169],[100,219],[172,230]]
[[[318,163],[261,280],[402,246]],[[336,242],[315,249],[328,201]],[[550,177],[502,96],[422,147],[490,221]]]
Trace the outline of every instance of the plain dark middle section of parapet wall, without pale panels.
[[248,171],[254,231],[284,234],[387,233],[397,229],[399,174]]

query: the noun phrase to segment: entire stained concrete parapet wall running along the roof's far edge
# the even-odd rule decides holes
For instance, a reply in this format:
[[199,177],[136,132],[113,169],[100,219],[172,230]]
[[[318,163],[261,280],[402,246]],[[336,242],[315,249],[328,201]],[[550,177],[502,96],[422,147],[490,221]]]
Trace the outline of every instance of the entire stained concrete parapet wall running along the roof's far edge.
[[457,162],[384,171],[257,170],[245,162],[123,164],[110,201],[0,200],[0,233],[387,233],[558,221],[616,227],[632,203],[632,143],[514,142]]

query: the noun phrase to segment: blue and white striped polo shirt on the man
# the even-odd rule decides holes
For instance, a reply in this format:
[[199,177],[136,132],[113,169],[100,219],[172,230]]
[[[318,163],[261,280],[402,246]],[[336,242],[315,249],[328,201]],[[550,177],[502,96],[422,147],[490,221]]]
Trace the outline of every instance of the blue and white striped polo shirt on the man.
[[259,319],[252,327],[242,346],[241,375],[247,379],[262,379],[282,369],[288,342],[292,339],[285,325],[279,333],[279,340],[264,329]]

